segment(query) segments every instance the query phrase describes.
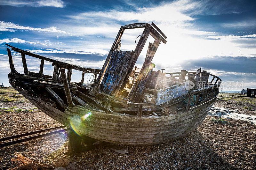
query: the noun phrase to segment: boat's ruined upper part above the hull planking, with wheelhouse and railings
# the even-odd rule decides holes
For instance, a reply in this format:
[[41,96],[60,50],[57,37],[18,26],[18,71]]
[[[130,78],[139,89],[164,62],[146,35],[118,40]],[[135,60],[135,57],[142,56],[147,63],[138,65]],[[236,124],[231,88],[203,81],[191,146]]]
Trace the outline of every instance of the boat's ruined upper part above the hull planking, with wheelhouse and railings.
[[[121,51],[121,37],[126,29],[144,28],[134,51]],[[147,55],[139,69],[135,63],[148,36]],[[221,79],[204,70],[154,71],[152,63],[166,36],[154,24],[121,26],[102,69],[88,68],[53,60],[6,44],[11,73],[10,84],[27,98],[44,100],[64,111],[75,105],[127,116],[170,116],[201,105],[218,95]],[[14,68],[12,52],[21,54],[24,74]],[[26,56],[41,60],[39,73],[28,71]],[[43,74],[44,61],[54,67],[52,75]],[[81,81],[72,82],[72,71],[81,72]],[[88,82],[85,75],[92,75]],[[189,80],[189,81],[188,81]]]

